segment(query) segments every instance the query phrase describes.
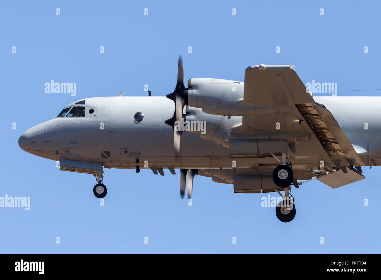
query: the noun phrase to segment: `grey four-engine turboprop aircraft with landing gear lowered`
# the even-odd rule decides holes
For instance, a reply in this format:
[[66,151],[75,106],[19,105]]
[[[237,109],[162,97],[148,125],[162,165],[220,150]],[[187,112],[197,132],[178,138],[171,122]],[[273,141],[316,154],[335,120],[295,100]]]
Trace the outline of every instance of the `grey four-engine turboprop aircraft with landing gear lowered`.
[[293,65],[249,66],[244,83],[192,78],[185,88],[183,76],[180,56],[166,97],[122,91],[75,101],[24,132],[19,146],[60,170],[93,174],[97,198],[107,194],[103,168],[179,168],[181,198],[191,197],[195,174],[235,193],[277,192],[282,222],[296,213],[291,185],[315,177],[341,187],[381,160],[379,97],[313,97]]

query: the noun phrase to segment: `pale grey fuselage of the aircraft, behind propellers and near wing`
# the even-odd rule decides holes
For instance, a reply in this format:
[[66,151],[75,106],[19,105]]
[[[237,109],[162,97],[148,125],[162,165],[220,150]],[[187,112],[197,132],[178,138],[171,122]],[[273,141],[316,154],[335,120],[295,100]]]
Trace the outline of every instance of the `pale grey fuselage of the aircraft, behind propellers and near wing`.
[[[322,96],[314,99],[332,112],[349,141],[363,148],[358,153],[365,165],[381,163],[378,141],[381,98]],[[168,98],[117,96],[86,98],[85,102],[82,105],[85,117],[58,117],[37,125],[22,134],[20,147],[55,161],[65,158],[101,162],[110,168],[135,168],[136,158],[141,163],[147,160],[149,168],[232,167],[227,147],[188,132],[182,133],[181,158],[176,160],[173,128],[165,123],[174,112],[173,101]],[[70,106],[74,106],[74,102],[67,107]],[[89,109],[94,110],[93,114],[89,114]],[[134,121],[136,112],[144,114],[140,123]],[[298,158],[303,156],[298,154]],[[237,167],[273,162],[272,157],[239,158]],[[140,164],[140,168],[144,166]]]

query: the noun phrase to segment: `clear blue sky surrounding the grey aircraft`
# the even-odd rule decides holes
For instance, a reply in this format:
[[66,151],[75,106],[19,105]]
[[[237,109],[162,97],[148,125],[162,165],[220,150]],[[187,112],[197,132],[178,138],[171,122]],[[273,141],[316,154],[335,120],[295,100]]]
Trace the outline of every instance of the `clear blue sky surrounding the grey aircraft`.
[[[108,194],[100,206],[93,176],[58,171],[55,162],[18,146],[24,131],[74,100],[122,90],[145,96],[145,84],[153,96],[165,96],[176,84],[179,54],[185,80],[243,81],[250,65],[293,64],[304,83],[380,88],[379,10],[376,1],[2,3],[0,196],[30,197],[30,210],[0,208],[1,252],[278,253],[291,245],[290,253],[380,253],[380,167],[363,168],[366,180],[339,189],[317,181],[293,188],[296,217],[282,223],[274,208],[261,207],[267,194],[234,194],[232,185],[200,176],[188,206],[179,198],[179,173],[168,170],[162,177],[106,169]],[[76,82],[77,96],[45,93],[50,80]]]

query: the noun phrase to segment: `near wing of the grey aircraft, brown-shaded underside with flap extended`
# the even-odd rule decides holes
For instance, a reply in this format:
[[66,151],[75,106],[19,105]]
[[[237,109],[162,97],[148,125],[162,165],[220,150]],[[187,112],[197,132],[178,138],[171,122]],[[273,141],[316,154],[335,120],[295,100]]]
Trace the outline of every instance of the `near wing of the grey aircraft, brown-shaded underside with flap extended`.
[[249,66],[245,70],[243,104],[275,110],[273,114],[256,115],[253,109],[253,114],[244,115],[242,125],[232,133],[255,131],[272,139],[292,135],[288,142],[296,143],[297,152],[327,156],[327,164],[344,173],[345,166],[364,166],[331,112],[314,101],[293,65]]

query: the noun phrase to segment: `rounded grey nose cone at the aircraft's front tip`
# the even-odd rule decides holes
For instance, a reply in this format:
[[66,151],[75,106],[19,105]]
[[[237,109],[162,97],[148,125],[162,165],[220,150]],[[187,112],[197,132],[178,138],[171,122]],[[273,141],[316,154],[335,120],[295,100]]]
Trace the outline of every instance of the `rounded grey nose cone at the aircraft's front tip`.
[[19,146],[30,154],[54,152],[51,137],[45,123],[40,123],[22,133],[19,138]]

